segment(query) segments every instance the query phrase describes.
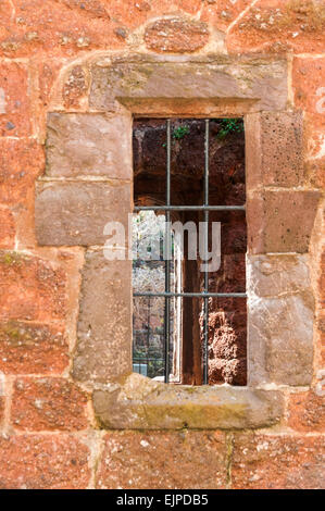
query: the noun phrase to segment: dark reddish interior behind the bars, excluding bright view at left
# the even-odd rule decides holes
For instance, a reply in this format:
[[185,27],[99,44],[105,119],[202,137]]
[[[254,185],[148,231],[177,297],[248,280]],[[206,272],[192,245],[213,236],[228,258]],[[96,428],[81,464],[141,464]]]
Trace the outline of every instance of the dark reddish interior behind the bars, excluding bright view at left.
[[[204,120],[172,120],[171,203],[203,204]],[[166,120],[134,121],[134,201],[136,205],[165,203]],[[209,169],[211,205],[246,202],[245,132],[241,119],[210,120]],[[172,221],[197,225],[202,211],[177,211]],[[245,211],[211,211],[209,226],[221,222],[221,265],[209,274],[209,291],[246,291],[247,226]],[[183,290],[202,289],[200,261],[183,262]],[[202,384],[202,300],[183,300],[179,383]],[[148,326],[149,327],[149,326]],[[245,298],[209,298],[209,384],[247,382],[247,310]]]

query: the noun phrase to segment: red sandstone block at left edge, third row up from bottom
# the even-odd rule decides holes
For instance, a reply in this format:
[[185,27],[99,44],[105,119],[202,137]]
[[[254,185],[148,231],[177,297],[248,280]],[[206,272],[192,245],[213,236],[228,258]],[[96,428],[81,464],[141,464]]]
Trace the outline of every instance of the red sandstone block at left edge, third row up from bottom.
[[0,323],[0,371],[4,374],[60,374],[67,364],[68,344],[61,326]]

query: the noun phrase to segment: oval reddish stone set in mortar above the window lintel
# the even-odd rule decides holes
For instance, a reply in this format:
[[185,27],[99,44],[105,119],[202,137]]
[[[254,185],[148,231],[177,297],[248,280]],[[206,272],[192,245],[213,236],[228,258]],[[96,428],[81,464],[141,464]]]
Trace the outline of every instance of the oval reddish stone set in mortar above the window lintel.
[[158,20],[147,26],[147,48],[161,52],[190,53],[202,48],[209,40],[205,23],[172,17]]

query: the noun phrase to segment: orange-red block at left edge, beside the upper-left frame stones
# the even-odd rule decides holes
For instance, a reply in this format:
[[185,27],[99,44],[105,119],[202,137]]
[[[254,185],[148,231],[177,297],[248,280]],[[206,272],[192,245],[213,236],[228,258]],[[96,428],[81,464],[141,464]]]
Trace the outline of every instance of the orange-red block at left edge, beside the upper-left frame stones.
[[43,167],[43,148],[36,140],[0,138],[0,203],[25,201]]

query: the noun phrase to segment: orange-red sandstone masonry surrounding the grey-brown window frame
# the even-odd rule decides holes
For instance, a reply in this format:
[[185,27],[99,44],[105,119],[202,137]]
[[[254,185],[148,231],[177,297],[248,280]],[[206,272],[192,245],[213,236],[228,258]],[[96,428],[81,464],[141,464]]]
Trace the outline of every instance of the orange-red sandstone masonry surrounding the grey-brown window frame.
[[[251,226],[263,229],[262,242],[266,248],[272,246],[275,229],[277,233],[280,229],[278,239],[284,246],[296,244],[295,252],[305,252],[308,246],[315,302],[314,349],[312,374],[303,373],[302,379],[295,382],[293,371],[288,385],[276,387],[285,402],[285,413],[276,425],[263,429],[245,427],[245,431],[230,425],[207,431],[104,431],[96,420],[89,388],[82,377],[76,377],[76,373],[83,373],[83,367],[75,365],[72,371],[80,271],[83,267],[87,271],[89,260],[96,260],[97,254],[85,257],[82,246],[67,247],[76,236],[74,232],[70,233],[66,244],[62,244],[66,245],[64,247],[37,244],[35,182],[46,169],[47,113],[58,102],[63,103],[66,111],[85,111],[90,80],[85,59],[98,59],[108,52],[117,52],[124,58],[137,52],[141,55],[164,54],[171,55],[171,60],[179,54],[253,55],[257,59],[267,55],[271,61],[280,58],[287,62],[288,107],[300,112],[299,122],[303,126],[302,158],[299,157],[298,162],[291,160],[292,148],[300,144],[299,133],[293,129],[287,158],[282,155],[279,161],[264,161],[263,169],[267,172],[260,176],[259,183],[276,179],[277,185],[265,196],[255,197],[255,210],[250,212]],[[62,76],[68,76],[64,84]],[[322,1],[1,2],[0,457],[3,461],[0,487],[324,486],[324,87],[325,8]],[[99,105],[95,103],[93,107]],[[55,122],[53,119],[54,132],[58,129]],[[270,126],[271,141],[280,145],[284,137],[282,123],[274,119],[263,122]],[[120,129],[122,133],[123,126]],[[288,129],[287,126],[285,133]],[[78,139],[82,133],[76,122],[72,135]],[[98,142],[100,161],[100,140]],[[261,158],[267,160],[268,142],[259,141],[258,163]],[[51,148],[48,149],[47,157],[51,158]],[[73,148],[70,157],[73,158]],[[118,154],[112,158],[118,158]],[[60,182],[65,173],[64,165],[53,172],[52,179]],[[123,166],[118,177],[122,174]],[[291,188],[289,199],[285,190],[283,197],[275,194],[288,183]],[[52,184],[46,185],[47,194],[53,196]],[[77,194],[78,184],[74,186]],[[97,187],[91,188],[95,199],[96,190]],[[309,194],[302,194],[305,191]],[[127,195],[127,190],[115,190],[116,195],[112,196],[110,189],[108,194],[110,200],[118,203],[120,194]],[[288,225],[277,224],[274,211],[280,209],[291,212],[288,213]],[[310,232],[311,216],[314,217],[311,211],[315,211],[315,221],[307,239],[305,232]],[[298,223],[302,230],[297,237],[295,226]],[[260,249],[254,242],[254,239],[249,241],[252,253]],[[278,249],[283,249],[283,245]],[[303,275],[303,261],[299,256],[292,258],[298,274],[302,272]],[[266,272],[270,277],[273,262],[266,263],[268,266],[264,264],[261,270],[258,261],[257,272]],[[286,316],[295,321],[297,310],[304,310],[299,309],[302,307],[299,300],[308,302],[309,297],[303,289],[304,281],[296,289],[286,282],[285,270],[283,275],[279,292],[286,295],[289,286]],[[264,291],[261,288],[259,292]],[[270,303],[274,303],[272,296]],[[83,307],[86,309],[87,303]],[[115,306],[110,303],[110,307],[113,316]],[[97,312],[96,304],[89,303],[89,313]],[[257,327],[263,325],[257,322]],[[83,328],[86,336],[86,323]],[[289,332],[290,342],[289,323],[284,328]],[[303,342],[303,332],[300,337]],[[278,360],[275,353],[270,374],[275,374],[282,382]],[[95,360],[96,363],[100,365],[101,361]],[[259,361],[255,367],[259,369]],[[105,370],[110,371],[110,367]]]

